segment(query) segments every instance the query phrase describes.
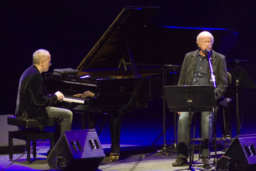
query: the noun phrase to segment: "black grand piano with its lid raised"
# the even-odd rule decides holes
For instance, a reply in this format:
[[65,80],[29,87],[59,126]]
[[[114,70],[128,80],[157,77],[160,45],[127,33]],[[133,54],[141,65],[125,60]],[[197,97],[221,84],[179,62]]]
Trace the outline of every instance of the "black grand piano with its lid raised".
[[[113,153],[120,151],[122,114],[147,107],[148,101],[163,97],[164,86],[177,85],[183,57],[196,49],[195,37],[203,31],[158,26],[151,18],[159,8],[125,7],[81,61],[78,74],[45,74],[48,93],[61,91],[76,110],[107,112],[113,116]],[[212,29],[211,32],[216,40],[216,51],[227,43],[230,35],[236,35],[236,31],[229,29]],[[87,90],[96,96],[72,99],[74,94]]]

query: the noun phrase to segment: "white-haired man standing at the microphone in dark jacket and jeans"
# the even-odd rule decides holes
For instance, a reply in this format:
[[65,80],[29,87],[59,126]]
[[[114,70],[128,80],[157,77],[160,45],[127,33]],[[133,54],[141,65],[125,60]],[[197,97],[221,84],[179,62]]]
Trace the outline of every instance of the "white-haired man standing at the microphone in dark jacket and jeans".
[[[227,64],[226,57],[212,50],[213,36],[209,32],[201,32],[197,36],[198,49],[185,55],[178,85],[213,85],[211,80],[211,71],[207,58],[207,52],[210,52],[210,58],[215,75],[216,88],[215,99],[218,100],[226,91],[227,87]],[[215,111],[216,108],[215,108]],[[189,113],[178,112],[178,151],[177,159],[172,163],[173,166],[187,164],[188,143],[189,143]],[[192,112],[192,116],[193,116]],[[202,151],[201,158],[205,168],[209,168],[210,151],[212,143],[212,119],[213,112],[201,112],[201,129],[202,129]]]

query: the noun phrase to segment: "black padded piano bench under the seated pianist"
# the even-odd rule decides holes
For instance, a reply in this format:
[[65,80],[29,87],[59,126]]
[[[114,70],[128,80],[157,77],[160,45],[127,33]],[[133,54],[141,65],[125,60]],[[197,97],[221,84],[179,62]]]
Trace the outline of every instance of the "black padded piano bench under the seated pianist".
[[[49,133],[44,131],[44,125],[38,122],[36,119],[24,119],[16,118],[16,116],[9,116],[7,118],[8,125],[18,126],[19,130],[9,131],[9,159],[12,160],[13,157],[13,139],[26,140],[26,152],[27,163],[31,163],[30,158],[30,142],[32,140],[33,147],[33,157],[36,158],[36,140],[38,139],[50,139],[50,149],[47,152],[49,154],[50,150],[54,146],[54,133]],[[54,119],[50,119],[50,124],[48,126],[54,126]],[[20,128],[24,128],[20,130]]]

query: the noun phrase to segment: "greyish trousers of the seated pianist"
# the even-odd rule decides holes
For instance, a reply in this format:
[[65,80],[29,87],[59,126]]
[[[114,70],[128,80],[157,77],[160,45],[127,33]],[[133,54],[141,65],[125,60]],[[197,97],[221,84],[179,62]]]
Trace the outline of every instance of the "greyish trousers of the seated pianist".
[[71,130],[73,113],[68,109],[58,107],[46,107],[49,118],[55,119],[57,126],[54,132],[54,142],[58,141],[64,131]]

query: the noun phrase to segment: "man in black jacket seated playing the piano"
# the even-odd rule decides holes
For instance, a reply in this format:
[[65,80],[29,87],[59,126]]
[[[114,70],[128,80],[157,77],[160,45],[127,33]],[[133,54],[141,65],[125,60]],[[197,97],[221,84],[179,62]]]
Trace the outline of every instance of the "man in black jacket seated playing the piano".
[[20,77],[16,112],[17,117],[36,118],[45,126],[49,125],[49,118],[58,123],[55,128],[55,142],[61,133],[71,130],[73,113],[70,110],[51,107],[64,95],[57,91],[55,94],[47,94],[44,86],[42,72],[47,72],[51,64],[51,55],[47,50],[39,49],[33,54],[33,64],[28,67]]

